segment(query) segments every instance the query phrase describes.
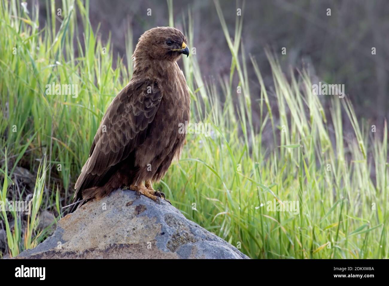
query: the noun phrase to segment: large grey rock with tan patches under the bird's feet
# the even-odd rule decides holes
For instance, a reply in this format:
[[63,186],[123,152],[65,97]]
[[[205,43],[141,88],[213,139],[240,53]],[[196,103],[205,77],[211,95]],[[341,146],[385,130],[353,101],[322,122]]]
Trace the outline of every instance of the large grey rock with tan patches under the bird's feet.
[[17,258],[248,258],[168,202],[131,190],[86,203]]

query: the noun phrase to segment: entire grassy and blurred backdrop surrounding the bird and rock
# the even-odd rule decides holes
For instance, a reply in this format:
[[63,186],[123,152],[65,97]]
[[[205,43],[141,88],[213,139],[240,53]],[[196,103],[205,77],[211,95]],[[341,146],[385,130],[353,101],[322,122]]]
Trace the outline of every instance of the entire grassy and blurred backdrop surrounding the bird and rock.
[[[173,205],[252,258],[387,258],[388,9],[2,0],[0,194],[32,200],[33,211],[0,211],[0,256],[36,246],[67,214],[100,120],[131,78],[137,38],[170,25],[196,48],[179,63],[191,120],[213,131],[188,134],[156,185]],[[47,95],[53,81],[78,84],[79,96]],[[345,84],[345,99],[313,95],[318,81]],[[267,211],[273,199],[300,201],[300,215]]]

